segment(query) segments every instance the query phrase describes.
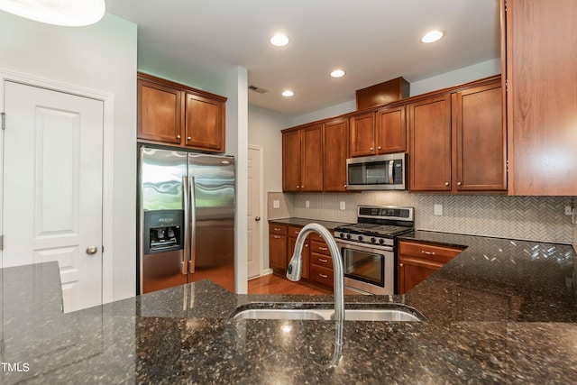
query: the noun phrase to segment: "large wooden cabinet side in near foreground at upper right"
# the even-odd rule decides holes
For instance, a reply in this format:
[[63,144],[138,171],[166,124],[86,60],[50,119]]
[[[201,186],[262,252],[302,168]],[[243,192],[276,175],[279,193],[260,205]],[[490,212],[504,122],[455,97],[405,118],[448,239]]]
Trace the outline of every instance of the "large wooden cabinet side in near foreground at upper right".
[[577,196],[577,2],[506,3],[508,194]]

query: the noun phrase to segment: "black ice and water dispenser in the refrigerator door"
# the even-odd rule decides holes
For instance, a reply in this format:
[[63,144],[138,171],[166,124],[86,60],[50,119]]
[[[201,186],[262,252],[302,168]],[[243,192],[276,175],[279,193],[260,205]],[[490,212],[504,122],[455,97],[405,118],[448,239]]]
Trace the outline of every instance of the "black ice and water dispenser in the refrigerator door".
[[179,250],[184,245],[183,210],[144,212],[144,254]]

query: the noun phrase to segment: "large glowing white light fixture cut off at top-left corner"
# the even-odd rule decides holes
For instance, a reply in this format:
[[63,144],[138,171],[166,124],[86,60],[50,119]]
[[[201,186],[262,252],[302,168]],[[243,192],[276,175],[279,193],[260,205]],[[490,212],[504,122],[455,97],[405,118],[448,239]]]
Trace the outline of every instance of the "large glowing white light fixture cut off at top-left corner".
[[36,22],[79,27],[105,14],[105,0],[0,0],[0,10]]

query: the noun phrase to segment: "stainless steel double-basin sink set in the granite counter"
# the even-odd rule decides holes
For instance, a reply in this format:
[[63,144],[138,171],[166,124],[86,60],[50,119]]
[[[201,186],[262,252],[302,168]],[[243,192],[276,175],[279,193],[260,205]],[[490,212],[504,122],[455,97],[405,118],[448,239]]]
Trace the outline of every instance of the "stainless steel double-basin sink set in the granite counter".
[[[239,309],[234,318],[237,319],[298,319],[330,321],[334,319],[333,308],[246,308]],[[345,321],[420,321],[417,311],[410,307],[396,305],[395,307],[345,308]]]

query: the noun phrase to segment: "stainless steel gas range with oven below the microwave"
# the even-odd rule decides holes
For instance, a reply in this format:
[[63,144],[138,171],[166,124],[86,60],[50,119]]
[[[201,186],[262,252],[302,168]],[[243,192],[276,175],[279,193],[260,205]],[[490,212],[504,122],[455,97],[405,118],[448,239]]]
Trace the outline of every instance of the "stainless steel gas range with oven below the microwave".
[[414,207],[358,206],[356,224],[334,229],[346,289],[395,294],[397,236],[413,231],[414,215]]

